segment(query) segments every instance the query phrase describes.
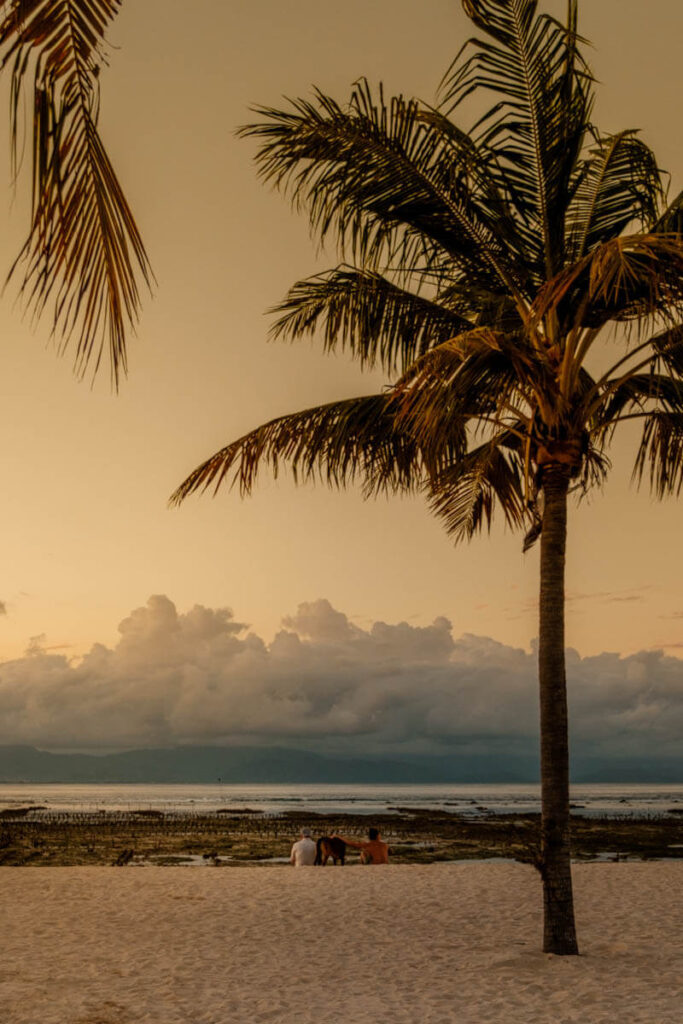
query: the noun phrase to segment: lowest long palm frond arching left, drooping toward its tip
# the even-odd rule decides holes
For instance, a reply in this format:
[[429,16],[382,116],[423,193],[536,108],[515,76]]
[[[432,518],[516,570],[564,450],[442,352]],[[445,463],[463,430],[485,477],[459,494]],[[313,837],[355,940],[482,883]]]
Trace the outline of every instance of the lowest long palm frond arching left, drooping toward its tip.
[[[458,443],[453,434],[450,440],[444,458]],[[321,478],[343,487],[359,481],[367,497],[415,489],[424,476],[419,445],[397,426],[390,397],[378,394],[271,420],[199,466],[170,502],[179,505],[211,486],[216,494],[225,482],[250,494],[263,466],[274,477],[288,466],[297,483]]]

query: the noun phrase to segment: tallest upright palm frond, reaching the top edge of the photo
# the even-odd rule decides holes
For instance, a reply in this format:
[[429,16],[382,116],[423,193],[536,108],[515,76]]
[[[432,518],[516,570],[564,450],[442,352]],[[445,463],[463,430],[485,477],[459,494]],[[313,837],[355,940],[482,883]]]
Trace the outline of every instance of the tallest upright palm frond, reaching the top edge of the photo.
[[495,154],[529,225],[538,276],[553,276],[563,263],[569,184],[592,105],[577,3],[569,0],[566,26],[537,14],[537,0],[463,0],[463,6],[488,38],[461,50],[444,78],[445,102],[454,109],[479,89],[499,97],[474,134]]

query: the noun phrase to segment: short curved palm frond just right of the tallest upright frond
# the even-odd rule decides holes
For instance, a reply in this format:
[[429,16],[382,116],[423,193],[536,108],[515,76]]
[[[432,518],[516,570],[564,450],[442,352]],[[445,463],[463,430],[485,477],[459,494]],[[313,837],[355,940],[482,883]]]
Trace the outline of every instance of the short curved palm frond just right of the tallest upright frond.
[[663,200],[654,154],[636,132],[597,136],[567,210],[569,258],[581,259],[634,222],[649,228]]

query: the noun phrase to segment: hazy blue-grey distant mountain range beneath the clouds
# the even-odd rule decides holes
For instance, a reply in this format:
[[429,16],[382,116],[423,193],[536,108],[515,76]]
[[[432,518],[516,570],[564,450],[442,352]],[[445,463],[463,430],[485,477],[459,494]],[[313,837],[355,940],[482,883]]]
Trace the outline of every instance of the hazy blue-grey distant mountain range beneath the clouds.
[[[683,758],[578,756],[573,782],[683,783]],[[331,757],[274,746],[177,746],[121,754],[50,754],[0,745],[0,782],[524,783],[536,757],[519,755]]]

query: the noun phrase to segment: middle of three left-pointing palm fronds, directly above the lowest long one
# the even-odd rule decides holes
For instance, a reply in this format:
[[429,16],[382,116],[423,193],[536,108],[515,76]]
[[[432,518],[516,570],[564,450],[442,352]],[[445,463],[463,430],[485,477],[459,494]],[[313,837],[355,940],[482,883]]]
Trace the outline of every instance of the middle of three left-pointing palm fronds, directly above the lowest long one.
[[379,273],[340,266],[299,281],[272,312],[275,338],[300,338],[322,329],[328,351],[347,348],[364,367],[380,364],[393,375],[428,348],[472,325],[450,308],[447,296],[433,301]]

